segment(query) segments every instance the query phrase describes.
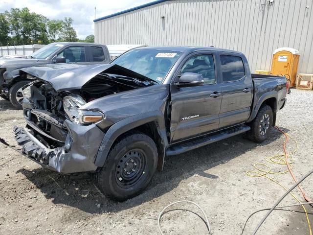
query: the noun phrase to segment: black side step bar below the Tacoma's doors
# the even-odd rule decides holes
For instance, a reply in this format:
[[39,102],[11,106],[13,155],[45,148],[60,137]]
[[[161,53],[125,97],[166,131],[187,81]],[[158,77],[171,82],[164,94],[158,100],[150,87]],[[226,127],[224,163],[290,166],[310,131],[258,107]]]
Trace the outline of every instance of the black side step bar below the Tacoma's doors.
[[176,145],[170,146],[168,149],[166,149],[165,154],[166,154],[166,156],[178,155],[178,154],[202,147],[202,146],[207,145],[209,143],[221,141],[221,140],[224,140],[226,138],[244,133],[244,132],[249,131],[249,130],[250,130],[250,127],[246,126],[246,125],[231,127],[228,129],[224,129],[220,132],[201,136],[201,137],[195,138],[193,140],[188,140],[186,142],[182,142],[181,144],[176,144]]

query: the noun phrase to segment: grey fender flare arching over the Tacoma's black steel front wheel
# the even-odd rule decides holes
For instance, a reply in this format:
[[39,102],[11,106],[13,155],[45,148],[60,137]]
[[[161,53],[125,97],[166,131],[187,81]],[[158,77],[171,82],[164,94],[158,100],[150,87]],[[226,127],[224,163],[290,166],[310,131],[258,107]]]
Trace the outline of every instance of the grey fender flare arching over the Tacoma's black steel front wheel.
[[101,142],[95,158],[95,165],[102,167],[115,141],[118,141],[121,136],[133,131],[140,131],[155,141],[158,150],[157,169],[162,170],[168,140],[166,137],[164,116],[160,111],[142,113],[113,124]]

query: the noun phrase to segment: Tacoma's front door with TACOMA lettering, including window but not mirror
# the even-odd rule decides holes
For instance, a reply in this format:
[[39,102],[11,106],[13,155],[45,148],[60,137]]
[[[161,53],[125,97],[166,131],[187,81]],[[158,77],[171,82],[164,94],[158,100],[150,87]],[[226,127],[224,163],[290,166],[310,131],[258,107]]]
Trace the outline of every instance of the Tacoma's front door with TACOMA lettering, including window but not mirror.
[[204,84],[177,87],[171,84],[171,142],[183,141],[219,128],[222,88],[215,53],[195,53],[182,63],[175,82],[184,72],[199,73]]

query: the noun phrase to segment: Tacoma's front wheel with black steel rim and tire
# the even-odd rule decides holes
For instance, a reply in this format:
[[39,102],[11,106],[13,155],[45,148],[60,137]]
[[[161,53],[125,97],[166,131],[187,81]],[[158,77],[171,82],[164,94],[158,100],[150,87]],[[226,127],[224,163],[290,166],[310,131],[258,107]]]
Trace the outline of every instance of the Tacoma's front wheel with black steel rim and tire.
[[124,201],[142,192],[151,181],[157,165],[156,143],[136,132],[122,137],[110,150],[95,184],[109,198]]

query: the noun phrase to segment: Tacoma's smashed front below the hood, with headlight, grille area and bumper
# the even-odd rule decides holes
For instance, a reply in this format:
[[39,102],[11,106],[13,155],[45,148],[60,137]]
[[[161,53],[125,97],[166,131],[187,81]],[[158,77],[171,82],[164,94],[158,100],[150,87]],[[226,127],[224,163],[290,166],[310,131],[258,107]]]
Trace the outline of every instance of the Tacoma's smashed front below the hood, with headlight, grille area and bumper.
[[50,84],[37,80],[23,89],[23,95],[27,124],[14,127],[22,151],[58,172],[95,171],[95,157],[105,135],[96,123],[104,115],[80,108],[97,98],[97,92],[56,92]]

